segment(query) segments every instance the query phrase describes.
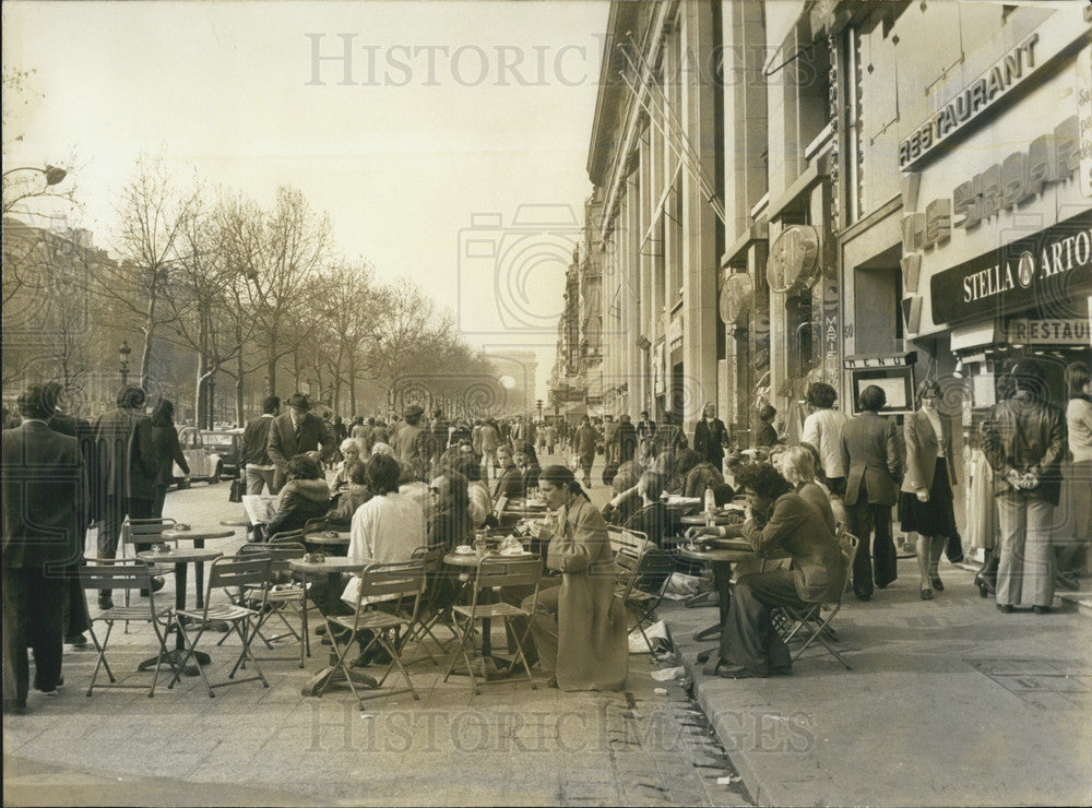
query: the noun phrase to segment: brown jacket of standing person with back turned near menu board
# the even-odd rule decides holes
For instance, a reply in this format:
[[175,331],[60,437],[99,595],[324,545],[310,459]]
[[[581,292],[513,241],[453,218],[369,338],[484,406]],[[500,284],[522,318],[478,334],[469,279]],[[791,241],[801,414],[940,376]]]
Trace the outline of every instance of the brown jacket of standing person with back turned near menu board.
[[845,504],[856,504],[860,489],[869,504],[899,501],[902,461],[894,424],[877,413],[864,412],[842,428],[842,462],[848,473]]

